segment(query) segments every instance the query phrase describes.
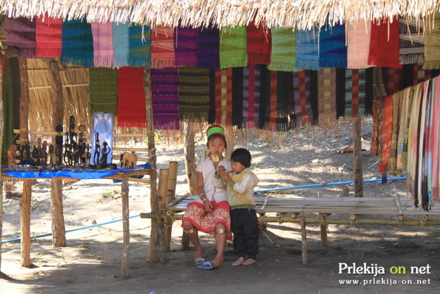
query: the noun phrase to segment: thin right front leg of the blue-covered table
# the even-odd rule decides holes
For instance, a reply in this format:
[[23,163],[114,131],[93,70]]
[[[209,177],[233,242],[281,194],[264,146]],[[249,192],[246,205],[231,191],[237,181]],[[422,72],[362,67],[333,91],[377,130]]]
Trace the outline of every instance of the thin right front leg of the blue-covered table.
[[121,277],[129,276],[130,246],[130,209],[129,209],[129,175],[122,176],[122,265]]

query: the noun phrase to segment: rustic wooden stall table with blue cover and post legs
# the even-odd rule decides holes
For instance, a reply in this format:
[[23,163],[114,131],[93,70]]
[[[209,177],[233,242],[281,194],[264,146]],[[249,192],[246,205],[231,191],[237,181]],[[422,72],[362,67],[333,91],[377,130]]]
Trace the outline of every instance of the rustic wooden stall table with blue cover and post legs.
[[[145,176],[155,174],[154,169],[147,167],[134,167],[126,169],[88,169],[59,171],[10,171],[2,170],[2,180],[22,180],[23,196],[21,199],[21,265],[31,266],[30,262],[30,203],[32,196],[32,180],[51,180],[52,186],[52,244],[65,246],[65,224],[63,216],[63,185],[61,180],[72,179],[118,179],[122,180],[122,277],[129,276],[129,180],[138,181],[133,176]],[[148,180],[142,180],[148,182]]]

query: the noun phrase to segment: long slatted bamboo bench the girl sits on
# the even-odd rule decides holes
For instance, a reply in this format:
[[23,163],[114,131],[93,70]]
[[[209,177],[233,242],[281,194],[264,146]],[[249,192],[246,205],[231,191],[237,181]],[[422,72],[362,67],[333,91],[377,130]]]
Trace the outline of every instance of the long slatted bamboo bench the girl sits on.
[[[167,222],[181,220],[183,211],[197,196],[182,196],[162,209]],[[307,264],[306,224],[320,224],[321,245],[327,246],[328,224],[388,224],[395,226],[440,225],[440,207],[430,211],[413,209],[406,198],[274,198],[255,197],[259,223],[298,222],[301,226],[303,264]],[[388,216],[388,218],[377,218]],[[393,220],[390,216],[395,216]],[[435,219],[430,219],[434,216]],[[153,213],[140,213],[141,218],[153,218]]]

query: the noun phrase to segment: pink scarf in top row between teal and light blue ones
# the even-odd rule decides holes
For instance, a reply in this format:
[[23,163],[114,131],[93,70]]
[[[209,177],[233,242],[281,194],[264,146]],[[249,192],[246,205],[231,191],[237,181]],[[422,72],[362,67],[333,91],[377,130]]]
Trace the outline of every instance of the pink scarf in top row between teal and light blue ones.
[[94,66],[113,67],[113,24],[91,23],[94,37]]

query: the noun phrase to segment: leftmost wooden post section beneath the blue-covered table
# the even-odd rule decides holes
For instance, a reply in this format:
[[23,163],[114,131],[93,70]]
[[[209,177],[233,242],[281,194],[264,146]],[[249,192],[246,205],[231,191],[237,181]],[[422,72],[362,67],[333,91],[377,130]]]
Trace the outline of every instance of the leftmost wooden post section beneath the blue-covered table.
[[32,180],[23,180],[23,195],[20,202],[21,219],[21,266],[30,268],[30,201]]

